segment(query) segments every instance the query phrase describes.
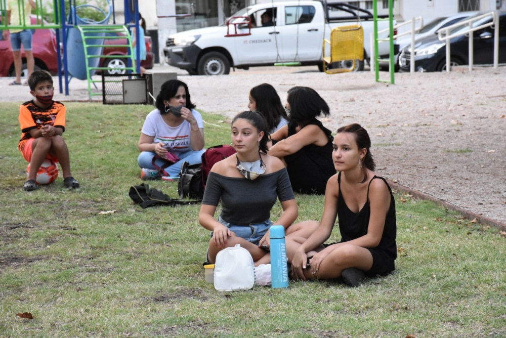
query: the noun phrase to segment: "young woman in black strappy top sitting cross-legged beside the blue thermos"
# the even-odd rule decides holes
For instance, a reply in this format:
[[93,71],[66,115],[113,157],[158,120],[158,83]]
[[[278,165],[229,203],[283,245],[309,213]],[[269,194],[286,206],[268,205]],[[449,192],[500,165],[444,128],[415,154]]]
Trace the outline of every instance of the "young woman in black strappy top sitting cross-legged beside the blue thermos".
[[[397,225],[395,200],[387,181],[374,172],[371,140],[359,124],[338,129],[332,159],[338,174],[327,183],[320,223],[293,226],[315,228],[305,240],[286,236],[288,260],[296,279],[334,279],[358,286],[364,277],[395,270]],[[339,220],[341,241],[323,244]]]

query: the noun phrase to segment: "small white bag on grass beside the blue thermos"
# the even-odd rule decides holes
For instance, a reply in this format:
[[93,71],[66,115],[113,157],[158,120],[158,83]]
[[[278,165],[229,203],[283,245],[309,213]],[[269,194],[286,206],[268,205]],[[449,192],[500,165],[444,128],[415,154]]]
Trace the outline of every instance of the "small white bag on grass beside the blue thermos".
[[255,265],[248,250],[236,244],[218,252],[215,263],[217,290],[248,290],[253,285],[255,285]]

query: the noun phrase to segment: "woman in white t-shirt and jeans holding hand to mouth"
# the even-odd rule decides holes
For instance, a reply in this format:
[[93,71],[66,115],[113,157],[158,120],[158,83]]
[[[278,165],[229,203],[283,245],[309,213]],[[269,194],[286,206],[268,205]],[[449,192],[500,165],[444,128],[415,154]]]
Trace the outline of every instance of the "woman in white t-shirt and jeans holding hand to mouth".
[[156,109],[142,126],[137,162],[143,180],[179,179],[183,162],[201,162],[204,152],[202,116],[190,100],[185,82],[168,80],[156,97]]

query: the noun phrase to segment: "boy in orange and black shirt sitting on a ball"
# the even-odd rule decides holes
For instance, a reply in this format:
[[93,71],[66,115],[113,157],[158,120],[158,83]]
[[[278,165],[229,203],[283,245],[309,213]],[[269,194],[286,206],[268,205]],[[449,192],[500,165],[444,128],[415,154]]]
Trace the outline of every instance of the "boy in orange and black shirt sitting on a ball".
[[53,78],[46,70],[37,70],[28,78],[28,86],[35,99],[23,103],[19,108],[22,134],[18,149],[30,163],[23,188],[26,191],[37,189],[35,178],[45,159],[60,162],[66,188],[78,188],[79,183],[70,173],[68,148],[62,137],[65,131],[65,106],[53,101]]

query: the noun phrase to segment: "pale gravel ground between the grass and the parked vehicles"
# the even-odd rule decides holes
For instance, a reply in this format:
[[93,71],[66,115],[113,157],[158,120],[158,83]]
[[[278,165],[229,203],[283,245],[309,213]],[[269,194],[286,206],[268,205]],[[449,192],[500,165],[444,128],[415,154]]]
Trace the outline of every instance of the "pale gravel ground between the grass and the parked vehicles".
[[[335,132],[358,122],[367,129],[379,174],[506,223],[506,67],[396,73],[395,85],[375,82],[368,71],[327,75],[316,67],[260,67],[213,77],[168,69],[188,83],[197,108],[227,117],[247,109],[249,89],[259,83],[271,83],[283,103],[291,87],[312,87],[329,104],[327,128]],[[55,99],[87,100],[86,81],[74,81],[69,97]],[[8,82],[0,79],[2,101],[27,100]]]

